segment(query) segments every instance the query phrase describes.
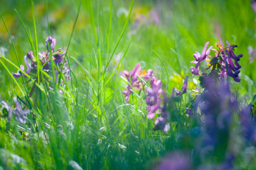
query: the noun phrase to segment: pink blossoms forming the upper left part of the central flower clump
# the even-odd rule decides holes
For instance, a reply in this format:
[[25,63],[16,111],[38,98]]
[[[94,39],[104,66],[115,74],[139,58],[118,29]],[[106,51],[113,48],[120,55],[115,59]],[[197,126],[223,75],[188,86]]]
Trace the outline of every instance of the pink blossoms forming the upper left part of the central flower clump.
[[[139,71],[141,71],[141,67],[139,67],[141,65],[141,63],[137,63],[137,65],[134,67],[133,70],[130,71],[123,71],[123,75],[126,76],[126,79],[128,80],[128,82],[131,83],[131,86],[136,87],[138,90],[141,90],[141,86],[139,84],[139,80],[137,79],[138,76],[137,74],[139,73]],[[130,80],[131,77],[131,80]],[[125,95],[125,101],[129,102],[129,96],[131,94],[131,86],[128,85],[125,88],[127,88],[127,90],[123,90],[123,94]]]

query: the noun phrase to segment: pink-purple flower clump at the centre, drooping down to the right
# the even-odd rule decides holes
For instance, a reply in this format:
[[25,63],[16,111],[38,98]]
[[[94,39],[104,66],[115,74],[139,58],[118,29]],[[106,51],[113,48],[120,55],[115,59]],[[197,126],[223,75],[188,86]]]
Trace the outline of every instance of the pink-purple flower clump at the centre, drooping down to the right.
[[[165,96],[164,105],[162,105],[163,101],[163,93],[164,91],[161,89],[162,82],[161,80],[156,80],[155,75],[152,69],[148,69],[141,71],[140,63],[138,63],[132,71],[123,71],[123,75],[126,76],[128,82],[134,87],[136,90],[142,90],[146,94],[146,104],[147,104],[147,118],[154,120],[156,114],[160,114],[159,117],[156,117],[155,128],[154,130],[163,130],[164,132],[170,129],[170,125],[168,124],[168,116],[169,113],[167,111],[167,99]],[[144,90],[144,82],[142,80],[138,80],[138,75],[144,79],[144,81],[150,82],[150,87]],[[127,90],[123,90],[123,94],[125,95],[126,102],[129,102],[129,96],[131,95],[130,85],[126,86]]]

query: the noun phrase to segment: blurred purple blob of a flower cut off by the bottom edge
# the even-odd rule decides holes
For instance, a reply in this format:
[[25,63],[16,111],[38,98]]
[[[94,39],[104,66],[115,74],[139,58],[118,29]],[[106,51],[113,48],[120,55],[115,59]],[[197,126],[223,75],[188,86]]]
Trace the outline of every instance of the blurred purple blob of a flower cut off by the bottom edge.
[[166,156],[154,170],[190,170],[192,168],[189,154],[174,151]]

